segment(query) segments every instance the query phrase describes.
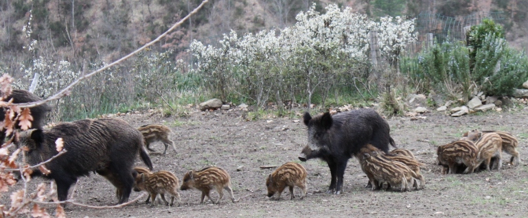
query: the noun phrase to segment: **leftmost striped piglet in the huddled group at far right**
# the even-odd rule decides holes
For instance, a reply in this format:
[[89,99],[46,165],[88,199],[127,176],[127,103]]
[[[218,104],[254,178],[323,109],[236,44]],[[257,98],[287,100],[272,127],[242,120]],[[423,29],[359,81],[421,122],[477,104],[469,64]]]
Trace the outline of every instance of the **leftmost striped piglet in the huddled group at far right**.
[[[446,145],[437,147],[437,161],[438,165],[448,167],[450,174],[457,173],[461,165],[465,165],[466,169],[463,173],[472,173],[475,162],[477,161],[477,153],[479,150],[472,141],[459,140]],[[444,172],[444,169],[442,170]]]

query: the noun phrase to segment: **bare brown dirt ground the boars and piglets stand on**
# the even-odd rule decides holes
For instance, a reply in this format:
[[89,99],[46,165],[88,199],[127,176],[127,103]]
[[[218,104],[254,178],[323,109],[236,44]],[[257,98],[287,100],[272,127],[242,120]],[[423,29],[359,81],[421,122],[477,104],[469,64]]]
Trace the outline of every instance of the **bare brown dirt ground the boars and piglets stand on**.
[[[160,117],[159,114],[129,114],[121,118],[134,126],[164,123],[172,128],[178,153],[171,148],[165,156],[151,153],[154,170],[174,172],[181,180],[190,169],[216,165],[231,175],[235,204],[225,196],[220,205],[199,204],[199,191],[180,191],[182,206],[159,204],[150,207],[140,199],[124,208],[93,209],[67,206],[68,217],[526,217],[528,216],[528,108],[450,117],[426,113],[426,119],[387,119],[398,147],[410,149],[426,166],[422,173],[426,188],[421,191],[370,191],[358,161],[350,159],[341,195],[328,195],[330,170],[325,162],[301,162],[308,171],[308,195],[290,200],[288,191],[279,201],[266,197],[266,177],[273,169],[262,165],[299,162],[297,155],[306,143],[301,117],[245,121],[242,112],[194,112],[190,117]],[[472,128],[505,130],[519,139],[521,163],[503,169],[470,175],[441,175],[436,165],[436,147],[453,141]],[[151,146],[163,151],[161,143]],[[137,165],[143,165],[138,162]],[[43,180],[31,182],[36,185]],[[14,189],[20,188],[17,184]],[[133,192],[130,199],[140,193]],[[216,193],[211,196],[216,199]],[[8,196],[2,197],[3,204]],[[80,178],[75,199],[82,204],[104,206],[117,203],[114,187],[100,175]],[[51,213],[52,208],[49,209]]]

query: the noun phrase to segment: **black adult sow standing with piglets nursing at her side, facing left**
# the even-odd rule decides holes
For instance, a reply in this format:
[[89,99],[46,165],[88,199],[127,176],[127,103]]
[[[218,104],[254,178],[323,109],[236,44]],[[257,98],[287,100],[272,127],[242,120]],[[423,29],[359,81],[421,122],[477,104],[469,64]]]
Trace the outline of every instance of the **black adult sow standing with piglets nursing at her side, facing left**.
[[352,110],[334,116],[325,112],[313,118],[306,112],[303,119],[308,126],[308,145],[299,160],[320,158],[327,162],[332,174],[327,193],[341,193],[348,159],[362,147],[371,144],[385,153],[389,152],[389,143],[395,147],[389,123],[375,110]]

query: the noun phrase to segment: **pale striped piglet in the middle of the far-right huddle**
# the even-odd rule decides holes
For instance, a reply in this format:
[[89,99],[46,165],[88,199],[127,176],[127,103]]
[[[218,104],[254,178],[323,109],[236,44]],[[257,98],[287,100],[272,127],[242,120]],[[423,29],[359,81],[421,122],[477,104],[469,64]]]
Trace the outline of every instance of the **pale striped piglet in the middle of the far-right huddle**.
[[[503,160],[503,139],[496,133],[483,134],[475,143],[479,153],[477,154],[477,161],[474,168],[476,169],[483,163],[487,171],[491,169],[501,169]],[[492,158],[497,158],[494,166],[491,165]],[[473,169],[474,170],[474,169]]]

